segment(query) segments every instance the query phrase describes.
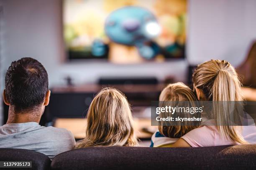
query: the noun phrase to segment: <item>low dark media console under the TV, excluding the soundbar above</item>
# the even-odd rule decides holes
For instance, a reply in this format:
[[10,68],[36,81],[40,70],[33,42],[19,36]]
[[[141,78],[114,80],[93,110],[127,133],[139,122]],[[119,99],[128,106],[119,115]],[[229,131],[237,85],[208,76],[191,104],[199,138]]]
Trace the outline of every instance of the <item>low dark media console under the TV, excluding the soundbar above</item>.
[[[103,87],[106,86],[53,88],[48,111],[53,117],[85,117],[93,97]],[[111,85],[111,87],[122,91],[132,106],[150,106],[151,101],[158,100],[161,92],[159,85]]]

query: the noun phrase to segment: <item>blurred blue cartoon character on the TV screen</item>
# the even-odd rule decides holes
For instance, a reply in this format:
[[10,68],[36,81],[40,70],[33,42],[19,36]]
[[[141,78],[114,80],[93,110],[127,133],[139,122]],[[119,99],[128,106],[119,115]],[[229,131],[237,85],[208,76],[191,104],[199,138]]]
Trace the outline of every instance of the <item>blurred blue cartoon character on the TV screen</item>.
[[135,46],[145,59],[151,59],[159,52],[153,42],[161,32],[153,13],[143,7],[126,6],[110,13],[105,21],[105,33],[111,41]]

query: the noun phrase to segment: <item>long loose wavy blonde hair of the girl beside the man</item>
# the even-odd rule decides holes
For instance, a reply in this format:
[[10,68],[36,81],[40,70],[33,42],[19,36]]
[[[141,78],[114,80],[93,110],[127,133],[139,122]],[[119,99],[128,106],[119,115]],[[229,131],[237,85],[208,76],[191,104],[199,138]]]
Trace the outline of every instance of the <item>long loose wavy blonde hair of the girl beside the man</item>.
[[134,146],[138,141],[132,123],[125,95],[114,88],[104,88],[92,100],[87,112],[86,136],[75,148]]

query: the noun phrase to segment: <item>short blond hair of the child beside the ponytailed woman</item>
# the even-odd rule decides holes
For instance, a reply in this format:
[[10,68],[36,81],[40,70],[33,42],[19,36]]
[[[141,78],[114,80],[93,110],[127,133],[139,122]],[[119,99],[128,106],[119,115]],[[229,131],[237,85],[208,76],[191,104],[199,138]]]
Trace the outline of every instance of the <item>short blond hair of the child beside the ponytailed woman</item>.
[[[186,102],[182,102],[186,101]],[[196,96],[193,91],[187,86],[184,85],[182,82],[177,82],[174,84],[167,85],[164,90],[162,90],[159,96],[159,107],[165,107],[166,105],[176,107],[179,105],[179,102],[182,102],[182,106],[186,105],[185,107],[196,107]],[[190,113],[179,113],[176,112],[175,116],[181,117],[200,117],[198,113],[192,115]],[[184,121],[184,122],[177,122],[175,125],[164,125],[164,123],[160,122],[158,126],[159,132],[169,138],[180,138],[189,131],[198,128],[200,125],[200,121],[193,122],[193,121]]]

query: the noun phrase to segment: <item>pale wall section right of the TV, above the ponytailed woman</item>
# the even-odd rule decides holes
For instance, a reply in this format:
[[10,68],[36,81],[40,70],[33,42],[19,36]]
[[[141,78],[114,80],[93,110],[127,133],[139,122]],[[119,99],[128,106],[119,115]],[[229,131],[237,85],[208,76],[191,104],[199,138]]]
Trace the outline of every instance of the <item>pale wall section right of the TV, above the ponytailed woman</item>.
[[237,66],[256,39],[255,0],[190,0],[188,60],[223,59]]

